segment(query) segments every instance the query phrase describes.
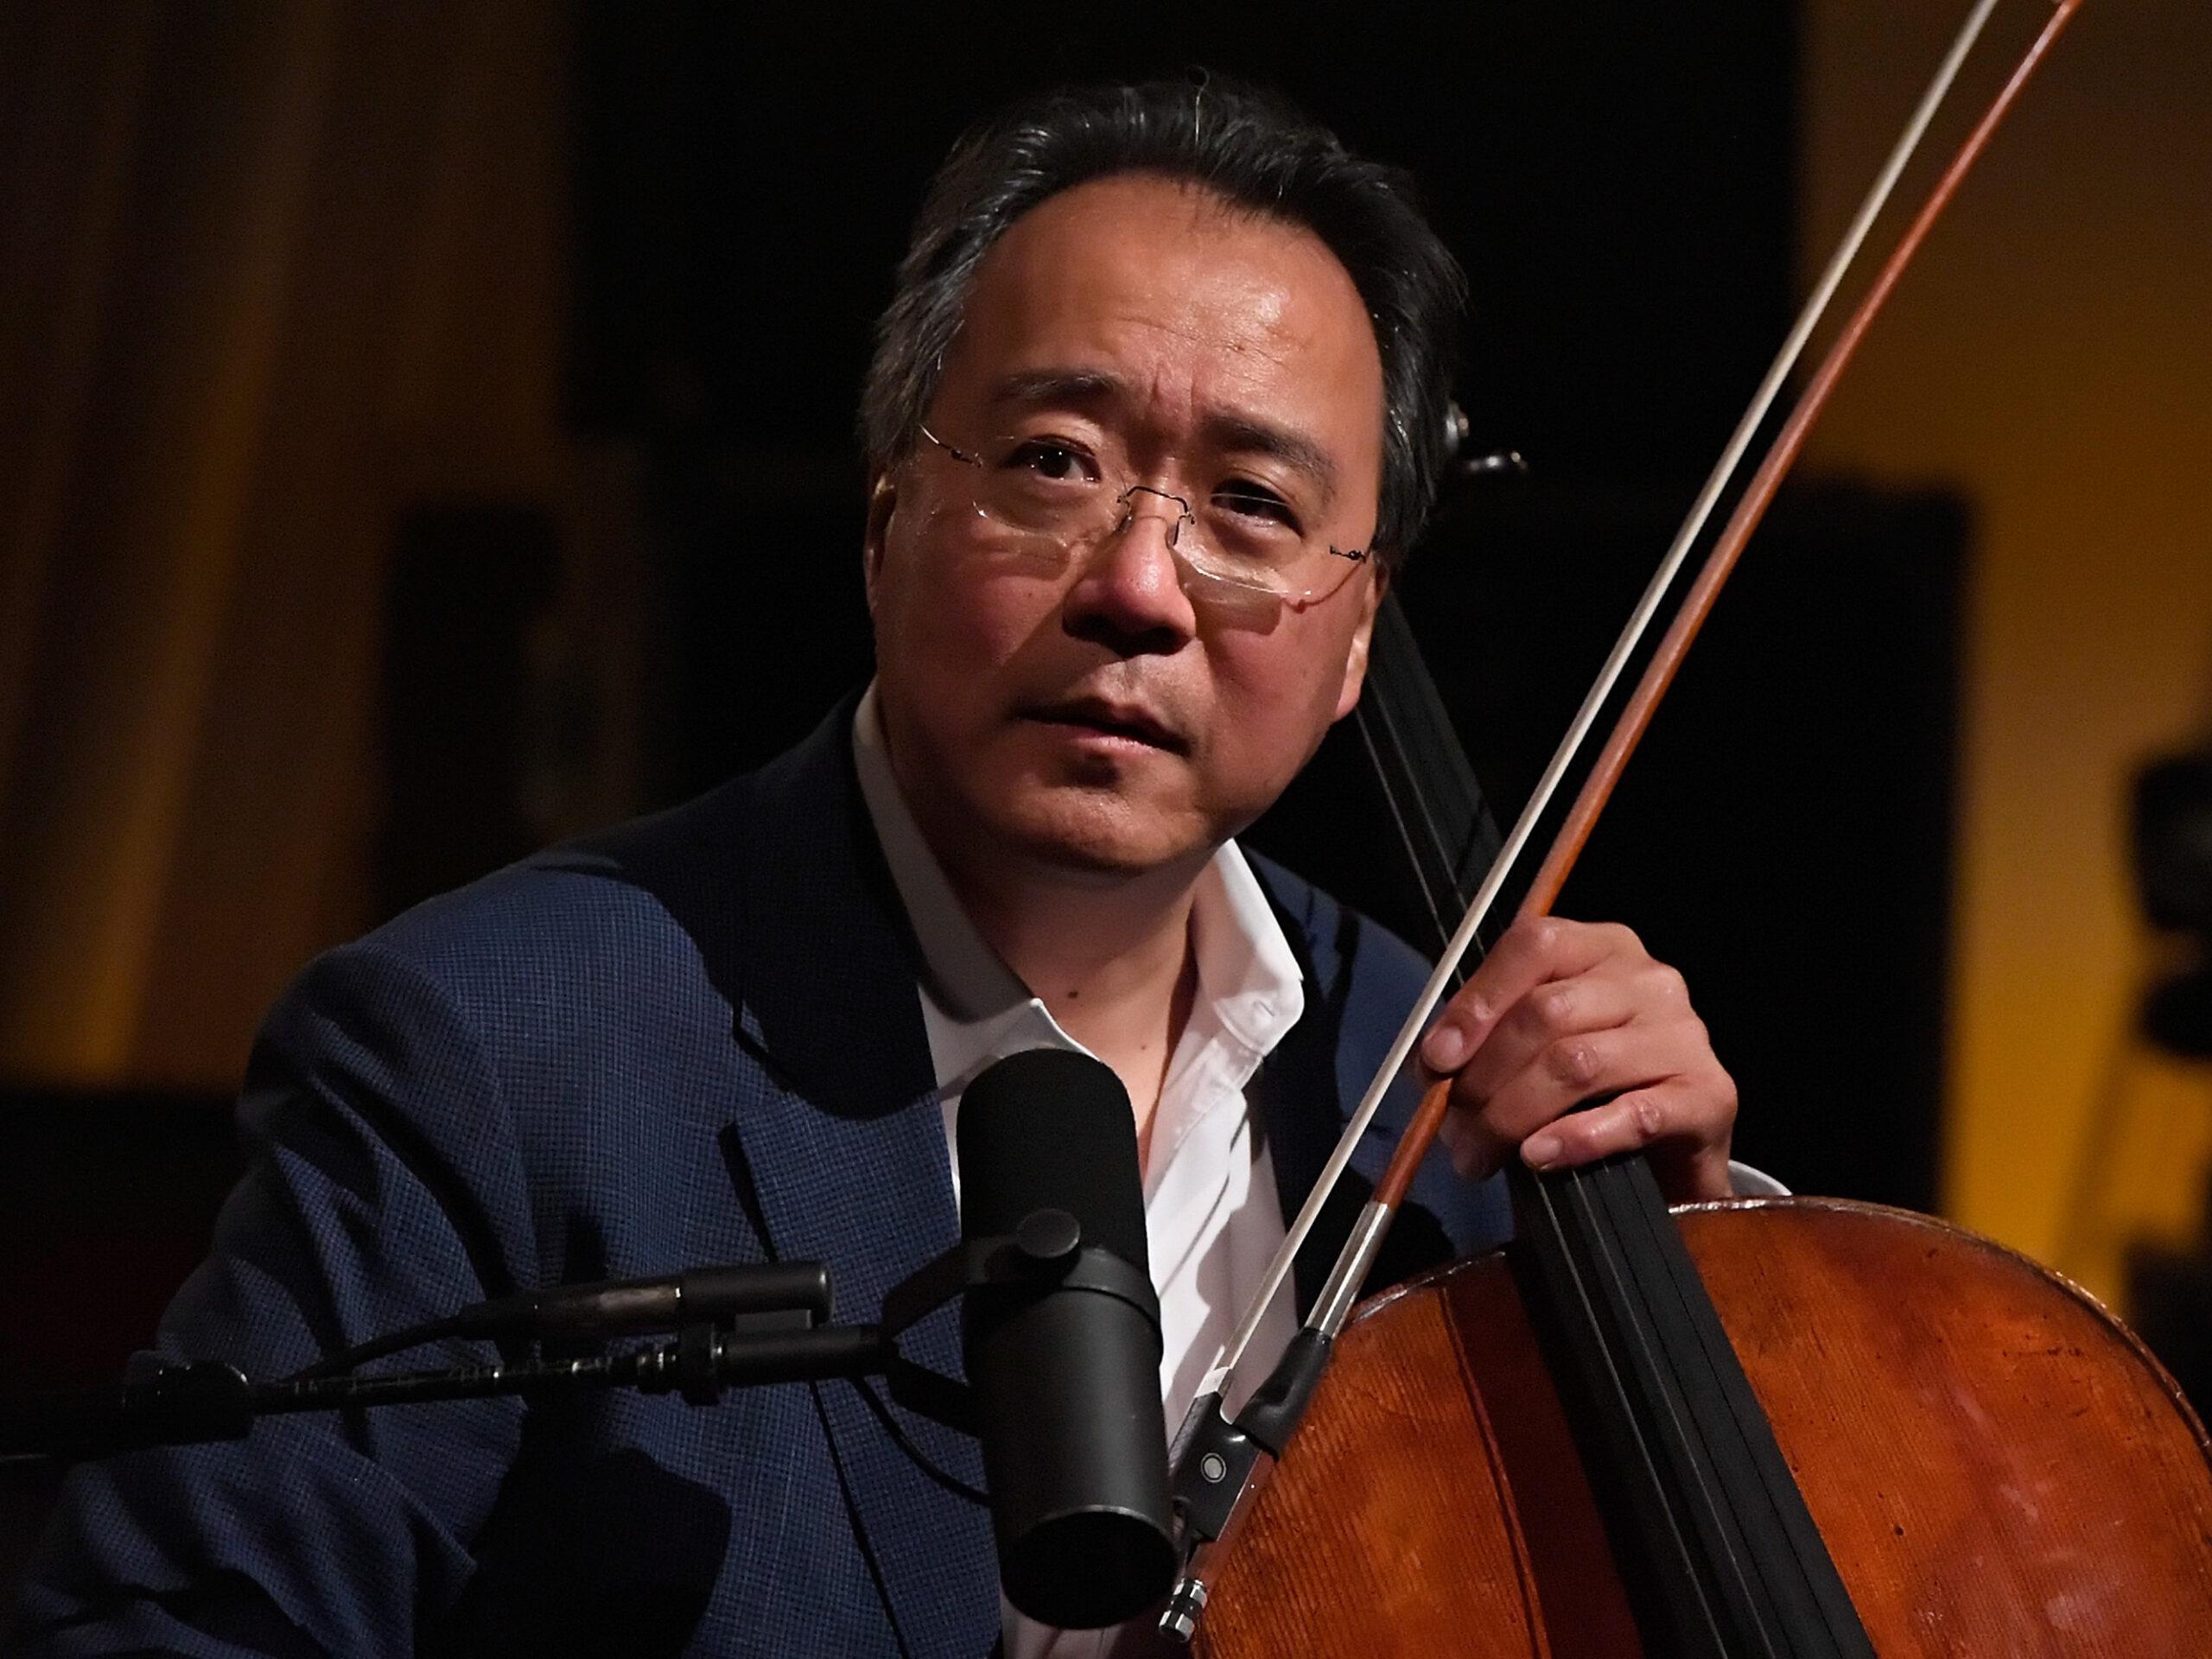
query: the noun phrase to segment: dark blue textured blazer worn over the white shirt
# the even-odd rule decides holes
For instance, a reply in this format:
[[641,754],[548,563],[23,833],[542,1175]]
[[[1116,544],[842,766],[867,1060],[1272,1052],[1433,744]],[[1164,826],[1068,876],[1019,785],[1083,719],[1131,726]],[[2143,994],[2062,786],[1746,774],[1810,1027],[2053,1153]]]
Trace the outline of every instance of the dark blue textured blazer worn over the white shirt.
[[[958,1217],[849,719],[307,967],[248,1071],[252,1172],[157,1349],[274,1378],[515,1287],[761,1259],[830,1263],[838,1318],[874,1318]],[[1254,1084],[1294,1210],[1422,962],[1254,863],[1307,975],[1305,1018]],[[1389,1141],[1360,1148],[1298,1261],[1301,1301]],[[1431,1161],[1383,1274],[1504,1232],[1495,1181]],[[958,1374],[951,1310],[909,1352]],[[599,1394],[263,1420],[243,1442],[73,1471],[15,1641],[982,1659],[991,1524],[956,1482],[982,1484],[971,1440],[852,1383],[706,1409]]]

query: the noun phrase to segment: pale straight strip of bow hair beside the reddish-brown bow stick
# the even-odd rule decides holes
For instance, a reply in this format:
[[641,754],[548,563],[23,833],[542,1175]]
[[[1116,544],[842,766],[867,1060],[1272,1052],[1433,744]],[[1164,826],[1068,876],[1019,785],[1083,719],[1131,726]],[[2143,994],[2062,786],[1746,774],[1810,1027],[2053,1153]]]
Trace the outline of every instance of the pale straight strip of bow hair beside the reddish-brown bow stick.
[[1398,1079],[1398,1073],[1405,1071],[1407,1060],[1411,1060],[1413,1048],[1418,1046],[1420,1035],[1429,1024],[1429,1015],[1436,1013],[1436,1004],[1442,1002],[1444,993],[1451,989],[1451,980],[1460,967],[1460,958],[1467,956],[1467,949],[1475,940],[1475,931],[1489,916],[1491,905],[1498,902],[1498,894],[1506,885],[1513,867],[1520,863],[1522,852],[1533,841],[1537,823],[1551,807],[1551,801],[1557,794],[1559,783],[1573,768],[1575,757],[1582,752],[1582,745],[1588,739],[1590,728],[1597,723],[1597,717],[1604,710],[1604,703],[1610,699],[1613,688],[1619,684],[1621,672],[1628,668],[1628,659],[1635,655],[1637,646],[1641,644],[1644,635],[1650,628],[1652,617],[1659,613],[1659,604],[1663,602],[1666,591],[1674,584],[1674,577],[1681,573],[1681,566],[1690,555],[1690,546],[1703,533],[1705,520],[1712,515],[1714,504],[1725,493],[1730,478],[1734,478],[1736,469],[1743,465],[1743,456],[1750,449],[1752,438],[1765,422],[1767,411],[1774,407],[1774,398],[1781,396],[1790,369],[1796,367],[1796,361],[1803,354],[1807,338],[1812,338],[1812,332],[1814,327],[1818,327],[1820,316],[1827,312],[1827,305],[1834,299],[1836,288],[1843,283],[1845,272],[1856,261],[1858,250],[1867,239],[1867,232],[1874,228],[1876,217],[1889,201],[1889,195],[1896,190],[1898,177],[1905,173],[1907,161],[1920,148],[1920,139],[1927,133],[1929,122],[1936,117],[1936,108],[1949,95],[1951,82],[1958,77],[1960,64],[1966,60],[1966,53],[1980,38],[1982,24],[1989,22],[1989,13],[1995,9],[1995,4],[1997,0],[1978,0],[1964,27],[1958,31],[1958,38],[1951,42],[1951,49],[1944,53],[1942,64],[1936,69],[1936,75],[1929,82],[1927,91],[1920,95],[1920,102],[1913,106],[1911,119],[1905,124],[1905,131],[1898,135],[1896,146],[1882,161],[1882,168],[1876,175],[1874,186],[1867,190],[1865,201],[1860,201],[1858,212],[1851,217],[1851,223],[1845,230],[1843,241],[1829,257],[1827,268],[1820,272],[1818,283],[1814,283],[1814,290],[1807,296],[1805,307],[1798,312],[1798,319],[1790,327],[1787,338],[1774,354],[1774,363],[1767,367],[1765,378],[1752,394],[1752,403],[1743,411],[1743,420],[1736,422],[1734,434],[1730,434],[1728,447],[1721,451],[1721,458],[1714,462],[1710,478],[1705,480],[1703,489],[1699,489],[1697,500],[1690,504],[1690,513],[1683,520],[1681,529],[1674,533],[1674,542],[1668,546],[1668,553],[1661,560],[1659,571],[1652,575],[1650,584],[1644,588],[1644,595],[1637,599],[1637,606],[1630,613],[1628,624],[1621,628],[1621,635],[1619,639],[1615,639],[1613,650],[1606,655],[1606,661],[1599,668],[1595,684],[1582,699],[1582,708],[1575,710],[1575,719],[1568,723],[1566,734],[1559,739],[1559,748],[1553,752],[1551,761],[1544,768],[1544,774],[1537,779],[1537,785],[1531,792],[1528,803],[1522,807],[1522,814],[1513,821],[1513,830],[1506,834],[1504,847],[1500,847],[1498,858],[1491,860],[1491,869],[1482,878],[1482,885],[1475,889],[1475,896],[1469,902],[1467,914],[1460,918],[1460,927],[1453,931],[1451,945],[1438,958],[1436,969],[1429,973],[1429,982],[1422,987],[1420,995],[1413,1002],[1413,1009],[1407,1013],[1405,1024],[1391,1040],[1391,1046],[1383,1057],[1383,1066],[1367,1084],[1367,1093],[1360,1095],[1358,1108],[1354,1108],[1352,1117],[1345,1121],[1343,1139],[1338,1139],[1336,1148],[1329,1152],[1329,1159],[1323,1166],[1321,1177],[1314,1181],[1314,1190],[1307,1194],[1305,1203],[1298,1208],[1298,1214],[1292,1219],[1283,1245],[1274,1254],[1274,1261],[1267,1263],[1267,1272],[1261,1279],[1259,1290],[1254,1292],[1252,1303],[1243,1314],[1243,1321],[1237,1325],[1234,1336],[1230,1336],[1230,1343],[1223,1349],[1221,1363],[1214,1367],[1212,1374],[1214,1380],[1210,1383],[1210,1387],[1225,1385],[1225,1380],[1234,1376],[1237,1367],[1243,1363],[1245,1349],[1259,1334],[1261,1316],[1274,1303],[1276,1294],[1283,1287],[1283,1281],[1290,1279],[1290,1270],[1298,1254],[1298,1248],[1305,1243],[1305,1237],[1314,1230],[1314,1223],[1321,1219],[1323,1206],[1336,1190],[1336,1181],[1343,1177],[1345,1168],[1352,1164],[1352,1152],[1365,1137],[1367,1126],[1374,1121],[1376,1110],[1380,1110],[1385,1095]]

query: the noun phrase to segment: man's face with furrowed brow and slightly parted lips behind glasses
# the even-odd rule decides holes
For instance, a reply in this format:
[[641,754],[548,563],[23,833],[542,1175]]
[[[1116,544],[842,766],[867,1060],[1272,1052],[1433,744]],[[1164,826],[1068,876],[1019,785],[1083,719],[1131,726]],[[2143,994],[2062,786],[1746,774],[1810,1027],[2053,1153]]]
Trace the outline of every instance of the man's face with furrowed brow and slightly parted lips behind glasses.
[[[1033,208],[975,272],[929,429],[1013,436],[1192,502],[1261,491],[1365,549],[1383,365],[1352,276],[1307,230],[1159,177]],[[1194,867],[1352,710],[1374,564],[1303,606],[1183,591],[1139,515],[1064,562],[987,557],[975,469],[920,440],[867,540],[878,701],[900,785],[949,860],[1128,876]]]

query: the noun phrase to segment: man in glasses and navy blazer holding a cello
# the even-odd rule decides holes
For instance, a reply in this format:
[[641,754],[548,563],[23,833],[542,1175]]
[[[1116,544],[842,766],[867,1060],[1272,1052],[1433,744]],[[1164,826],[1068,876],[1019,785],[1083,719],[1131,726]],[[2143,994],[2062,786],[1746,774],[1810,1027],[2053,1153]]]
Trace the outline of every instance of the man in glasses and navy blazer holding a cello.
[[[164,1352],[281,1376],[515,1285],[763,1256],[872,1318],[958,1234],[960,1088],[1057,1042],[1128,1086],[1177,1420],[1422,978],[1232,836],[1358,699],[1455,303],[1402,181],[1265,100],[1060,95],[969,139],[867,383],[872,690],[310,967]],[[1650,1146],[1674,1197],[1730,1190],[1734,1091],[1626,929],[1511,933],[1422,1057],[1460,1177],[1422,1172],[1400,1267],[1498,1241],[1506,1157]],[[914,1349],[956,1369],[951,1321]],[[978,1482],[854,1385],[265,1422],[80,1471],[27,1635],[982,1655]]]

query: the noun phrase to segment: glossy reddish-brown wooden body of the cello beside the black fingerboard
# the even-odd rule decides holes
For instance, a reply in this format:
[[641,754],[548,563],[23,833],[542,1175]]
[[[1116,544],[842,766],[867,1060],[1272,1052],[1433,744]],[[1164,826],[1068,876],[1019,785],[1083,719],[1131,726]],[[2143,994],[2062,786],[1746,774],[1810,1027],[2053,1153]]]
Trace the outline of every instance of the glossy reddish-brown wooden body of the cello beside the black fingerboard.
[[[2099,1303],[1902,1210],[1674,1214],[1876,1652],[2212,1655],[2212,1442]],[[1509,1256],[1354,1314],[1201,1652],[1661,1652]]]

